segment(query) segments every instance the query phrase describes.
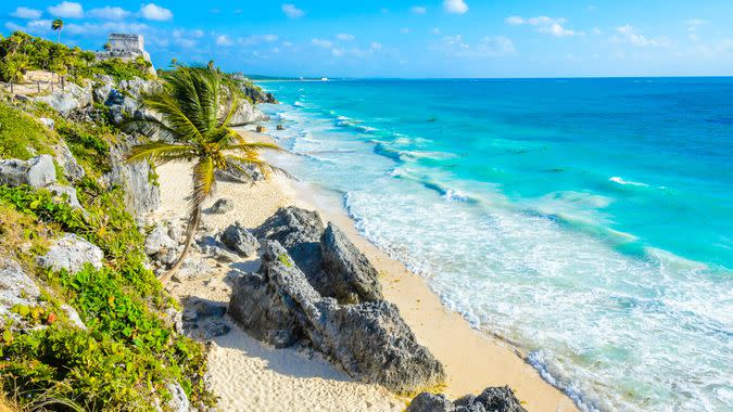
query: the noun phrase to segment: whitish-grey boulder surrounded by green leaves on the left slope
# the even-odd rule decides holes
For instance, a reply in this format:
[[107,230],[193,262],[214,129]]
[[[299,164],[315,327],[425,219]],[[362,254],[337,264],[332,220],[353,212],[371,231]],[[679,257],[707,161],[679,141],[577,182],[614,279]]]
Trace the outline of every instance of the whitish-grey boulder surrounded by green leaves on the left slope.
[[46,255],[38,257],[38,265],[52,270],[65,269],[71,273],[81,270],[85,263],[102,268],[102,249],[73,233],[56,240]]

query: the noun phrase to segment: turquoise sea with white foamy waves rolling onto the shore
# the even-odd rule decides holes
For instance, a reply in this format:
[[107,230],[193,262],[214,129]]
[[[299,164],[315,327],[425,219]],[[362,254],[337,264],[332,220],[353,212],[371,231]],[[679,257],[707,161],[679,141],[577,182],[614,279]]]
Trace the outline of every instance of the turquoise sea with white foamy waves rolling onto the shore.
[[262,86],[285,166],[582,409],[733,410],[733,79]]

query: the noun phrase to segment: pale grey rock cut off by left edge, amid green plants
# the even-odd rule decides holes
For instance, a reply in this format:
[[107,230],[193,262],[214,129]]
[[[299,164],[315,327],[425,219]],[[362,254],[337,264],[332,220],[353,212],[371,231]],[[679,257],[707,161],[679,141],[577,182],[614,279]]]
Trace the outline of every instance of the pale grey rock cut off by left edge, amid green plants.
[[0,325],[5,317],[20,321],[21,317],[10,309],[15,305],[35,306],[40,291],[30,276],[13,259],[0,258]]

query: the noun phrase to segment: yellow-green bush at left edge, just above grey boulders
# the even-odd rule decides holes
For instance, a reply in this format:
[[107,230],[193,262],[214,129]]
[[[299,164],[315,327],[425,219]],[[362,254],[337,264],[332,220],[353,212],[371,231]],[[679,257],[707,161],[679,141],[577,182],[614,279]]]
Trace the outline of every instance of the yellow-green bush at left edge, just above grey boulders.
[[55,136],[38,120],[0,103],[0,158],[27,160],[36,154],[51,154],[54,143],[58,143]]

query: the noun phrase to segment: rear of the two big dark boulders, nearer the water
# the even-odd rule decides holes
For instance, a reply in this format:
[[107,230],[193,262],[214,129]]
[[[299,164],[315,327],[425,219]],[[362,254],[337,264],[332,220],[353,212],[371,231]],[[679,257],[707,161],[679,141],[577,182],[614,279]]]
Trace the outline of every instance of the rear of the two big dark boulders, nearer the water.
[[332,223],[324,230],[316,211],[280,208],[254,231],[258,239],[278,241],[323,296],[342,304],[382,298],[377,270]]

